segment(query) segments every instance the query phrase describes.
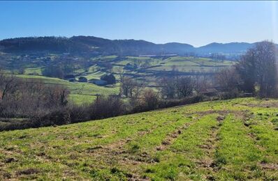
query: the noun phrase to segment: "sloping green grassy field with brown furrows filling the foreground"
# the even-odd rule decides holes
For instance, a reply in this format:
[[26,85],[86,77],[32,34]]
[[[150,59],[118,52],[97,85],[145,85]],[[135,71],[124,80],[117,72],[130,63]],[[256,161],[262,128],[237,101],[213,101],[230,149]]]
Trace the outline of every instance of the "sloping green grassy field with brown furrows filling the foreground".
[[0,133],[0,180],[278,180],[278,100]]

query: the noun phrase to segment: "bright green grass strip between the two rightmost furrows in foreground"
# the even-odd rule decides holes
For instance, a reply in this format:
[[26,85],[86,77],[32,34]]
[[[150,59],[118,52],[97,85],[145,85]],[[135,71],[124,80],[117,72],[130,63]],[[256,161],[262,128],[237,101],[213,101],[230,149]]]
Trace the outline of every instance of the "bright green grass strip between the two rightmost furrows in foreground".
[[254,166],[261,159],[259,150],[249,136],[249,128],[236,115],[228,115],[219,129],[219,142],[214,154],[212,178],[218,180],[256,179]]

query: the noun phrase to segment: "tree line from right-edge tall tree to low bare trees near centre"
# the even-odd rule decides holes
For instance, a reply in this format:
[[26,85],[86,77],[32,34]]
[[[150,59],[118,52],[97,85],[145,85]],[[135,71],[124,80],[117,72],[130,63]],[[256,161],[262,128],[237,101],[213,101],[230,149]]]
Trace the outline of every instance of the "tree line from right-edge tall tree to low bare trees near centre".
[[259,97],[278,97],[278,50],[273,42],[258,42],[240,61],[214,77],[173,76],[161,80],[161,95],[168,99],[200,95],[208,88],[216,88],[227,97],[249,93]]

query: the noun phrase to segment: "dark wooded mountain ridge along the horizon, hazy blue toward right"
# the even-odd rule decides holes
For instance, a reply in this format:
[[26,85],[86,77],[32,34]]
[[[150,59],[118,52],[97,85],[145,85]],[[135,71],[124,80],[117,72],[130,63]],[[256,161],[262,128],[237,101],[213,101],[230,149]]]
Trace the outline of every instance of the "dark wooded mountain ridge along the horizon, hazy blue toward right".
[[145,40],[108,40],[94,36],[9,38],[0,41],[2,52],[57,52],[71,54],[139,56],[142,54],[242,54],[255,43],[212,42],[202,47],[168,42],[155,44]]

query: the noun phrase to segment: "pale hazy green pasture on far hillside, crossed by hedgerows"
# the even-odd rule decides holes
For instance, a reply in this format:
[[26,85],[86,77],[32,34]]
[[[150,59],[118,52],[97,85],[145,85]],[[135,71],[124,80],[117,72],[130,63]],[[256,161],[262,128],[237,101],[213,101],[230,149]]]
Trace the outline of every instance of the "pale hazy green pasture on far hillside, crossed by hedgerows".
[[[191,56],[173,56],[169,58],[152,58],[152,57],[136,57],[136,56],[126,56],[124,58],[119,59],[117,61],[113,61],[113,58],[116,56],[102,56],[98,58],[94,58],[95,62],[103,62],[110,61],[112,63],[111,72],[117,74],[119,70],[123,70],[124,65],[138,65],[140,67],[140,71],[156,71],[158,74],[165,71],[173,70],[173,66],[175,69],[180,72],[218,72],[223,68],[227,68],[228,66],[234,65],[234,61],[215,61],[211,58],[196,58]],[[138,70],[124,70],[125,73],[129,74],[129,76],[138,76]],[[144,72],[144,71],[143,71]],[[101,67],[97,65],[92,66],[89,69],[89,72],[85,74],[85,77],[88,79],[100,79],[101,75],[105,74],[101,70]],[[154,72],[152,75],[156,76]],[[144,75],[146,80],[149,78],[149,74]],[[118,77],[117,77],[118,78]]]

